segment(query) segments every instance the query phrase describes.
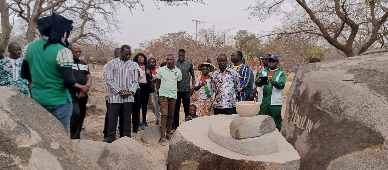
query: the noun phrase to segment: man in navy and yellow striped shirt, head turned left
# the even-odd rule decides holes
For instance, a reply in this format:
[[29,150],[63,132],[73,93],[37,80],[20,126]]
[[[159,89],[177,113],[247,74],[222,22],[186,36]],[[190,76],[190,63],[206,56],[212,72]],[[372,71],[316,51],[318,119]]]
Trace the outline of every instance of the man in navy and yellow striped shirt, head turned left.
[[239,74],[240,79],[240,89],[237,93],[237,102],[239,101],[247,101],[249,99],[248,96],[246,96],[246,87],[249,85],[249,79],[251,76],[251,69],[249,66],[242,64],[242,52],[239,50],[236,50],[232,52],[230,55],[230,60],[234,63],[229,66],[229,68],[233,69]]

